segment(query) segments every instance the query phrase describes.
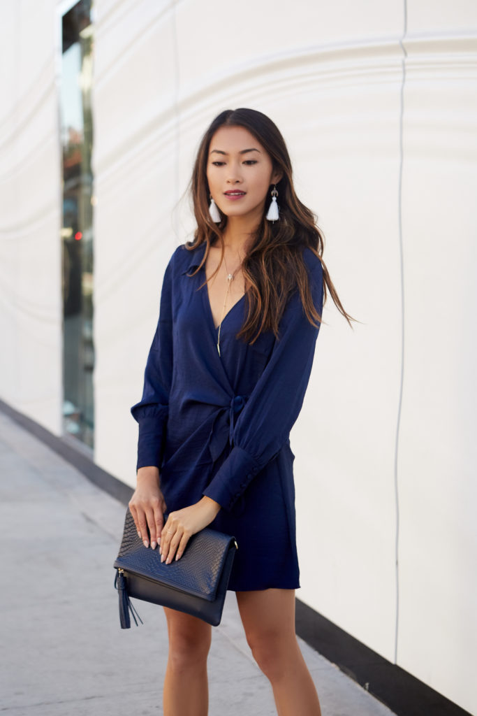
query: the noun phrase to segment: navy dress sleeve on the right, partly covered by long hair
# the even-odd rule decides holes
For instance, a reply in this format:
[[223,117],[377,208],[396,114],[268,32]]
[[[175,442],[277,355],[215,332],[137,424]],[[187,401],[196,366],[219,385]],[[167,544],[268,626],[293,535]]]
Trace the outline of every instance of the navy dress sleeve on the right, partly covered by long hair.
[[[313,258],[310,288],[321,314],[323,269],[319,259]],[[288,440],[303,405],[318,330],[308,321],[295,292],[280,321],[270,360],[235,423],[230,455],[203,492],[227,511]]]

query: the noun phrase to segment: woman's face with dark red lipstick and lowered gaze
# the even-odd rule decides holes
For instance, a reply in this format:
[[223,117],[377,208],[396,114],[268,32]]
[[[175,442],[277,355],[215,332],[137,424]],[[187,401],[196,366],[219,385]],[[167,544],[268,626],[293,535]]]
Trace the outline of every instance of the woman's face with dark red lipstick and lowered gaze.
[[226,216],[250,217],[260,223],[270,184],[280,181],[272,160],[245,127],[220,127],[210,141],[207,181]]

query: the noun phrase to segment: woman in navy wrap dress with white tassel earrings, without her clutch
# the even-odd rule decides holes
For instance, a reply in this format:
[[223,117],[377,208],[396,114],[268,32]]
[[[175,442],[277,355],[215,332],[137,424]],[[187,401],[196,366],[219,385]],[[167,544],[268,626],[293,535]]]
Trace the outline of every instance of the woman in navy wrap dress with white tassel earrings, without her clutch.
[[[285,142],[255,110],[222,112],[192,174],[197,231],[164,274],[147,359],[137,488],[144,545],[180,559],[206,526],[235,536],[229,589],[282,716],[320,704],[295,636],[295,491],[290,429],[303,403],[326,289],[313,213],[295,195]],[[167,523],[163,514],[168,511]],[[207,715],[209,624],[164,610],[165,716]]]

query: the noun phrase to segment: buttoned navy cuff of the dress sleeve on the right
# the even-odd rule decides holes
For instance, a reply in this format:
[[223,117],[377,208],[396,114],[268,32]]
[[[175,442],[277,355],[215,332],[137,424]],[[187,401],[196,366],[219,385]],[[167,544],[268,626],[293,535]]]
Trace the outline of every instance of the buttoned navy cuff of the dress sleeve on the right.
[[235,446],[202,495],[210,497],[222,508],[230,511],[259,471],[257,460]]

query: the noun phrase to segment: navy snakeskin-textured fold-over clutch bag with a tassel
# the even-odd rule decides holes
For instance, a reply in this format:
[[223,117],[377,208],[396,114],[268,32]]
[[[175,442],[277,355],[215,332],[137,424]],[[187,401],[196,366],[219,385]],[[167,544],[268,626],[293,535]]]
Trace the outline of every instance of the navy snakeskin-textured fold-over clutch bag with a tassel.
[[130,597],[185,611],[217,627],[236,549],[235,538],[206,527],[192,535],[180,559],[166,564],[158,549],[144,547],[128,508],[114,562],[122,629],[131,626],[129,612],[142,624]]

